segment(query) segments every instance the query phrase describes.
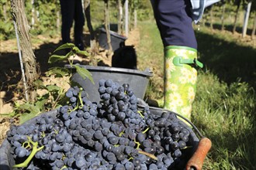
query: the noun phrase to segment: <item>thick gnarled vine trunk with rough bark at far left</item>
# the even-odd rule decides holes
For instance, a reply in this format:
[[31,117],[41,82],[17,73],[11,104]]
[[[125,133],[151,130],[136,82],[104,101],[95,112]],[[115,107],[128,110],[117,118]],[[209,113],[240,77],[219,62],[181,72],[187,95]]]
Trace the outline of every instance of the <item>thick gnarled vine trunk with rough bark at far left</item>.
[[29,94],[29,101],[36,100],[36,90],[33,89],[33,82],[38,78],[38,68],[36,63],[36,56],[33,53],[30,36],[29,36],[29,23],[26,19],[24,1],[11,0],[12,18],[16,22],[18,32],[20,48],[22,51],[22,63],[25,67],[26,83]]

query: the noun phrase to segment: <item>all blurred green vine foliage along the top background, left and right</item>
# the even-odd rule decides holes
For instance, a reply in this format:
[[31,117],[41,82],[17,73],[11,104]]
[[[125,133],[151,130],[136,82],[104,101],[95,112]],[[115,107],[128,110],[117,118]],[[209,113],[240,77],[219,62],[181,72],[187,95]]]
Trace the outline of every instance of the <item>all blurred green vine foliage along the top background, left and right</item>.
[[[109,2],[109,22],[118,22],[118,0],[108,0]],[[26,6],[26,16],[31,26],[30,32],[33,35],[49,33],[54,34],[61,30],[61,6],[60,0],[29,0],[24,1]],[[124,3],[124,0],[121,0]],[[213,8],[206,8],[204,23],[218,23],[223,21],[223,25],[232,26],[237,15],[237,3],[240,2],[238,8],[238,19],[236,26],[241,27],[244,22],[244,9],[247,5],[247,0],[225,0],[213,5]],[[15,31],[12,22],[11,5],[8,0],[0,0],[0,39],[12,39],[15,36]],[[104,1],[91,0],[91,18],[92,26],[95,28],[102,26],[104,22]],[[148,19],[153,17],[152,9],[149,0],[129,0],[130,10],[130,28],[135,22],[134,13],[137,13],[137,20]],[[213,12],[213,18],[210,15]],[[256,17],[256,3],[252,2],[251,15],[249,19],[248,29],[253,29],[254,18]],[[214,21],[213,21],[214,20]],[[212,23],[211,23],[212,24]],[[221,24],[221,23],[220,23]],[[86,28],[85,28],[86,29]]]

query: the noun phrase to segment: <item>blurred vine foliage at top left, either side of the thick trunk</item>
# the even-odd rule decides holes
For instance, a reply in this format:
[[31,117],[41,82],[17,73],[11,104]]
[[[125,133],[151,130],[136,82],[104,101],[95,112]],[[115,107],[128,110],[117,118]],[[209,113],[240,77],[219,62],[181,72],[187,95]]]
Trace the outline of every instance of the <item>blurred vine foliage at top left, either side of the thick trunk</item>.
[[[24,1],[26,8],[26,17],[31,27],[30,32],[33,35],[45,32],[54,33],[61,27],[61,6],[59,0],[29,0]],[[11,14],[11,2],[0,0],[1,8],[0,19],[0,39],[11,39],[15,36],[14,26]]]

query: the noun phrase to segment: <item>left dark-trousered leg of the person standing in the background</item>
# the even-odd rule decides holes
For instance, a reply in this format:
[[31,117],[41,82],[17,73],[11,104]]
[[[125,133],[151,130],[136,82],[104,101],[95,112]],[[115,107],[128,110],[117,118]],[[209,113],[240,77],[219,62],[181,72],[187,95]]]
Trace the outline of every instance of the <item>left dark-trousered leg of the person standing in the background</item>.
[[71,42],[71,27],[74,19],[74,1],[61,0],[61,37],[62,42]]

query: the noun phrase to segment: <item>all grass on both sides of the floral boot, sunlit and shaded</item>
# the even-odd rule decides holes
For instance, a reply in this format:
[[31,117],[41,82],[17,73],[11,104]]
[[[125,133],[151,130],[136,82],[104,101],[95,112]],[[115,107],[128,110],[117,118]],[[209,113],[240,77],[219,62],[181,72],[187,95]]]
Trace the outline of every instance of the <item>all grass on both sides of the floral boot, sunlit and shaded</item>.
[[[195,33],[205,68],[199,70],[192,121],[213,142],[203,168],[256,169],[256,49],[220,31]],[[140,69],[154,71],[147,97],[162,100],[163,47],[152,22],[140,25],[137,55]]]

